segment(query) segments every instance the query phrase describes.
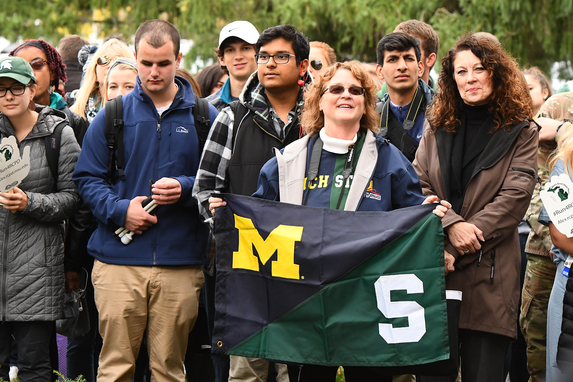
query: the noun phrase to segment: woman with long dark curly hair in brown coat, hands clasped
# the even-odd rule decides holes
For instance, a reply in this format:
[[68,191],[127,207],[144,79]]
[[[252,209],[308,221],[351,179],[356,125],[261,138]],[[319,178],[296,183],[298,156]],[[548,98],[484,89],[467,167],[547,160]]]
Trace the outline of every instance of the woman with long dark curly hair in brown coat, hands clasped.
[[531,96],[500,44],[475,37],[442,59],[438,88],[414,168],[425,196],[452,203],[442,224],[446,255],[456,258],[446,289],[462,291],[462,380],[501,382],[517,336],[517,225],[537,179]]

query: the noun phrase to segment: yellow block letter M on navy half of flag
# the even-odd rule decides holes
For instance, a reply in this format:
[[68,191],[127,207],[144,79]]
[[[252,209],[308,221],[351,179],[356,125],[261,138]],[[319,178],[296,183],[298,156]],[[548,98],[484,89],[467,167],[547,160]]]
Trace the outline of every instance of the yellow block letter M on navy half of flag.
[[271,274],[274,277],[299,279],[299,265],[295,264],[295,242],[303,236],[303,227],[276,227],[266,239],[263,239],[253,225],[253,221],[235,216],[235,227],[239,230],[239,248],[233,252],[233,268],[258,271],[258,259],[253,254],[257,249],[261,263],[265,265],[277,252],[277,260],[272,261]]

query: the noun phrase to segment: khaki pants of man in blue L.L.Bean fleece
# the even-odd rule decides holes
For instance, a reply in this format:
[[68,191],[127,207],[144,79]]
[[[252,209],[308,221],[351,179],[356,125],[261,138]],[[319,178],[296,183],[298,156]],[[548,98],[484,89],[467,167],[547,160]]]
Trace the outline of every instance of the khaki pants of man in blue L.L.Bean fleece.
[[103,338],[98,382],[131,382],[147,329],[151,381],[184,381],[197,320],[201,266],[128,266],[95,260],[92,282]]

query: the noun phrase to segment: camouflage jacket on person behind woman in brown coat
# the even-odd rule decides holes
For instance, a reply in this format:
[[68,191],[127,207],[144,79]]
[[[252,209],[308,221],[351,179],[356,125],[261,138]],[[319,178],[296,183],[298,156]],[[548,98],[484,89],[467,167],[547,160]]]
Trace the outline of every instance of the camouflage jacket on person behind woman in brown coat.
[[[545,104],[541,107],[537,117],[545,117],[556,119],[566,122],[558,131],[556,140],[559,136],[567,131],[567,128],[572,126],[573,122],[573,92],[559,93],[551,96]],[[549,175],[551,174],[551,168],[549,167],[549,158],[551,153],[557,147],[556,141],[540,141],[539,150],[537,151],[537,174],[541,178],[541,182],[545,184],[549,180]],[[537,222],[537,216],[541,211],[541,198],[539,196],[540,186],[537,184],[533,196],[531,198],[531,203],[529,204],[529,209],[527,214],[525,214],[525,220],[529,227],[531,227],[531,233],[529,233],[527,245],[525,246],[525,252],[549,256],[549,251],[551,250],[551,237],[549,235],[549,228],[541,225]]]

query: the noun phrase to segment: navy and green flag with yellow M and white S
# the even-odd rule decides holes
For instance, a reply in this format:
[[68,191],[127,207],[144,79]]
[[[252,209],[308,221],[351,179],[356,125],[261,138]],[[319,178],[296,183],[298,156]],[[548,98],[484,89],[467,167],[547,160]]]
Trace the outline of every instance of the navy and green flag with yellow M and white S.
[[343,366],[449,359],[435,205],[354,212],[221,196],[214,352]]

